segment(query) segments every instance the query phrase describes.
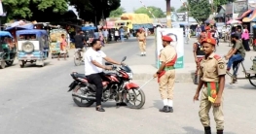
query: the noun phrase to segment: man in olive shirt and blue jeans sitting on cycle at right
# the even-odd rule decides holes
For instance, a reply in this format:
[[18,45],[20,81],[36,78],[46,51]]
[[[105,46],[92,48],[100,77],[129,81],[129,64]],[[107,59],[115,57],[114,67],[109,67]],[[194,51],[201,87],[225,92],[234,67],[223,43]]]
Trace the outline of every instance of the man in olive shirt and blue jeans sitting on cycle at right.
[[[245,57],[245,50],[242,46],[241,41],[239,40],[238,34],[232,34],[231,41],[233,43],[233,47],[225,55],[226,60],[229,60],[228,66],[227,66],[227,71],[230,71],[231,66],[235,61],[243,60]],[[233,68],[235,68],[235,67],[233,66]],[[234,72],[233,75],[236,77],[237,72]]]

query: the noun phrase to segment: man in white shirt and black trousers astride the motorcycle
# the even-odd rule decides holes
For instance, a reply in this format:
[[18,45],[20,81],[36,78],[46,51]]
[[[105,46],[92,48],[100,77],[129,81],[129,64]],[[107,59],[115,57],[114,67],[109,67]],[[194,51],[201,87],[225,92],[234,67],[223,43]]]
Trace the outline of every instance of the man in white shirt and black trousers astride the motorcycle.
[[94,39],[91,42],[91,48],[85,52],[85,75],[87,76],[89,83],[96,86],[96,111],[105,112],[101,107],[101,97],[102,97],[102,79],[104,79],[103,69],[112,70],[112,67],[103,66],[102,59],[106,61],[121,65],[121,63],[107,57],[106,54],[100,50],[102,47],[102,42],[98,39]]

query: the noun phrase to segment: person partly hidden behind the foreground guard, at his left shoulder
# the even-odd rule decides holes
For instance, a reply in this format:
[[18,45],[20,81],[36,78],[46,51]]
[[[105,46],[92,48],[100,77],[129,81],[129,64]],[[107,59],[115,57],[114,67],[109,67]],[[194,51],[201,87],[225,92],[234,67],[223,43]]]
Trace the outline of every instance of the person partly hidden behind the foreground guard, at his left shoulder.
[[204,38],[205,38],[205,35],[201,34],[200,37],[199,37],[199,41],[197,43],[193,44],[193,53],[194,53],[195,62],[196,62],[196,65],[197,65],[197,69],[196,69],[196,72],[195,72],[194,84],[199,84],[199,82],[198,82],[198,79],[199,79],[198,78],[198,71],[199,71],[199,68],[200,68],[201,59],[204,56],[201,41]]

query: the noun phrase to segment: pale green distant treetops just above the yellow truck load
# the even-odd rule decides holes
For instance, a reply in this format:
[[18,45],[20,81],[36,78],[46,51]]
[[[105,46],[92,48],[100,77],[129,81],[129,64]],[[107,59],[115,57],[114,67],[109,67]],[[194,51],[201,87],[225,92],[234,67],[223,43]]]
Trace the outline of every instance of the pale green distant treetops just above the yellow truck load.
[[[154,6],[147,7],[149,11],[155,16],[155,17],[165,17],[165,13],[161,10],[161,8],[157,8]],[[141,7],[134,11],[135,14],[146,14],[149,17],[152,17],[152,15],[148,12],[148,10],[144,7]]]

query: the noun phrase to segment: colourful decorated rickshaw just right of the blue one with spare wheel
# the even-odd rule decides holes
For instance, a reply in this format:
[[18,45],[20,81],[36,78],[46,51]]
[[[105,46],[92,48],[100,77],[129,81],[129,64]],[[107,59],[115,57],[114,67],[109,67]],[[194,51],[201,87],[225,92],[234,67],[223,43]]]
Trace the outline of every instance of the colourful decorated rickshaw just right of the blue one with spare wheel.
[[66,41],[67,41],[66,54],[67,54],[67,57],[69,57],[68,49],[70,47],[69,46],[70,39],[67,31],[65,29],[52,29],[50,30],[50,50],[52,53],[52,58],[57,57],[59,54],[61,54],[61,56],[64,54],[60,52],[61,34],[64,34],[66,38]]

